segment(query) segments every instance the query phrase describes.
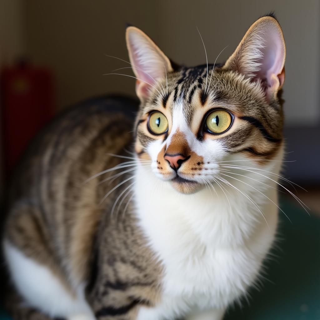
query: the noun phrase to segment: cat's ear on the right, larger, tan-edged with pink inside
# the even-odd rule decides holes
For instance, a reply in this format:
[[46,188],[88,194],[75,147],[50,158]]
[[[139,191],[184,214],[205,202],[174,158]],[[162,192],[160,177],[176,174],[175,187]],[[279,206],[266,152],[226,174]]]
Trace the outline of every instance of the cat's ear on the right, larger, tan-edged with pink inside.
[[223,68],[260,80],[270,101],[284,84],[284,61],[282,29],[274,17],[265,16],[252,24]]

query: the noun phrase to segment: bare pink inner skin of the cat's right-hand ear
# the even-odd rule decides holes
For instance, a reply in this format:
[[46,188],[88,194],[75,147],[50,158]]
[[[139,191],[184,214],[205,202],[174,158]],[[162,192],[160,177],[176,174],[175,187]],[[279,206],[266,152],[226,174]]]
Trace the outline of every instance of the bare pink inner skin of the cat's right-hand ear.
[[261,63],[257,77],[267,86],[272,85],[272,74],[276,76],[281,73],[284,61],[284,44],[279,31],[269,27],[262,36],[264,47],[260,49],[263,57],[258,60]]

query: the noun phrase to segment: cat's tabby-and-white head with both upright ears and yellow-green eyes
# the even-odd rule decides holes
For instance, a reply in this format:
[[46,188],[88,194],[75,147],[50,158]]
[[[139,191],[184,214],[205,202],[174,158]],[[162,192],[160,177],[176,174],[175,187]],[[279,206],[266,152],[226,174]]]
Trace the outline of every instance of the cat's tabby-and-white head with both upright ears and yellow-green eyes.
[[193,193],[217,181],[222,163],[277,155],[285,43],[275,18],[254,22],[222,65],[177,66],[135,27],[126,41],[141,101],[135,151],[157,177]]

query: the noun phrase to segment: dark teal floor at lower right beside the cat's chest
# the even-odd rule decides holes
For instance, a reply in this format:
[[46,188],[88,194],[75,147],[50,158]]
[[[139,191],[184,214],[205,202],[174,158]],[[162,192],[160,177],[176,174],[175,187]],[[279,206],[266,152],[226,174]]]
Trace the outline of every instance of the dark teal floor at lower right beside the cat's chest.
[[[267,279],[225,320],[320,320],[320,219],[287,201],[281,207],[292,223],[280,214],[282,240],[265,263]],[[0,311],[0,320],[10,318]]]

